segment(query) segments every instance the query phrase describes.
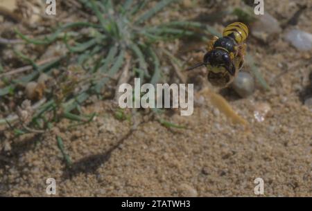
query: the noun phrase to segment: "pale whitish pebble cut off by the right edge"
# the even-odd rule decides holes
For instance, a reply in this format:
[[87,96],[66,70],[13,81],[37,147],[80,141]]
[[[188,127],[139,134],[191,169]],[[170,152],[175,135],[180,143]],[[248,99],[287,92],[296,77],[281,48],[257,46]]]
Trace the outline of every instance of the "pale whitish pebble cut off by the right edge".
[[285,35],[285,39],[299,51],[312,49],[312,35],[302,30],[293,29]]

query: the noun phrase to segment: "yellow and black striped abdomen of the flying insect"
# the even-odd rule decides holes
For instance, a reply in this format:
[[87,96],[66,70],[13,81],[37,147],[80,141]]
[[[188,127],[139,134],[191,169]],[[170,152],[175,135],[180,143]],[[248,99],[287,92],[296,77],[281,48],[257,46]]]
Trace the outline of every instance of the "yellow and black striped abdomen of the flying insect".
[[227,36],[233,37],[238,44],[241,44],[248,37],[248,27],[241,22],[229,24],[223,30],[223,37]]

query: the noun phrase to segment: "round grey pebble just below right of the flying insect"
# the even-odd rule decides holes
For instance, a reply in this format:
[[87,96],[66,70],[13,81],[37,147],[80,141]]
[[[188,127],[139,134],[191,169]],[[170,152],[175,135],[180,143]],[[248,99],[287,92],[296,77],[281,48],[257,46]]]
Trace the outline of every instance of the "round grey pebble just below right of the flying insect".
[[246,98],[254,93],[254,78],[250,73],[239,72],[232,87],[242,98]]

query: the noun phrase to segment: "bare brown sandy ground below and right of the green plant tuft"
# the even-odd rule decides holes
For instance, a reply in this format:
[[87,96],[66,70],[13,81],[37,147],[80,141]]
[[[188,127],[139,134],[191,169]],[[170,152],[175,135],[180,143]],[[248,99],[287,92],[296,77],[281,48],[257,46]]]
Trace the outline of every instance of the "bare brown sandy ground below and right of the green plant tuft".
[[[275,17],[295,11],[277,3],[267,8]],[[311,12],[292,28],[312,33],[308,17]],[[53,177],[56,196],[255,196],[254,179],[260,177],[265,196],[312,196],[312,109],[302,101],[311,93],[311,51],[300,53],[281,36],[269,44],[252,39],[248,46],[271,89],[245,99],[227,91],[225,98],[248,120],[249,130],[230,124],[205,95],[192,116],[163,116],[187,129],[151,120],[133,131],[128,120],[114,118],[112,102],[98,101],[83,108],[98,113],[88,125],[68,129],[70,122],[62,120],[43,135],[5,138],[0,194],[47,196],[46,178]],[[270,111],[258,122],[254,111],[263,103]],[[55,135],[64,140],[71,169]]]

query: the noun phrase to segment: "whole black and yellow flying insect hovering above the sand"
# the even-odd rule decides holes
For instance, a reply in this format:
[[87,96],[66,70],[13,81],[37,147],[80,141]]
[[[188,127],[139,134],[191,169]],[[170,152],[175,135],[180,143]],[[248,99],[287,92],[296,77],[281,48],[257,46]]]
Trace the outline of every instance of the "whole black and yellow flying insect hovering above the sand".
[[212,85],[228,86],[243,66],[247,37],[248,27],[245,24],[229,24],[223,30],[223,37],[214,36],[209,41],[203,61],[187,68],[187,71],[205,65],[207,79]]

